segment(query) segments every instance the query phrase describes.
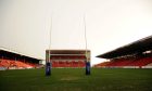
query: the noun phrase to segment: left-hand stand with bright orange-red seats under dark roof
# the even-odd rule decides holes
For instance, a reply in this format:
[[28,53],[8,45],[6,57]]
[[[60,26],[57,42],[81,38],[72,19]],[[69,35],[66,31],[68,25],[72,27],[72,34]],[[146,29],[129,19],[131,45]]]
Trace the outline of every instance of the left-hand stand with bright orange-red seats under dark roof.
[[42,67],[42,60],[0,48],[0,70]]

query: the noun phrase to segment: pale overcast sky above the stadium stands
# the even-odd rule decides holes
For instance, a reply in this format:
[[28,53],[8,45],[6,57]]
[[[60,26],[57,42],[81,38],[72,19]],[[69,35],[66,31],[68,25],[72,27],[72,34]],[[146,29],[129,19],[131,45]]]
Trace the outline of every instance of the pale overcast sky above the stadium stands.
[[[96,57],[152,35],[151,0],[0,0],[0,47],[45,60],[46,49]],[[51,37],[50,37],[51,30]]]

